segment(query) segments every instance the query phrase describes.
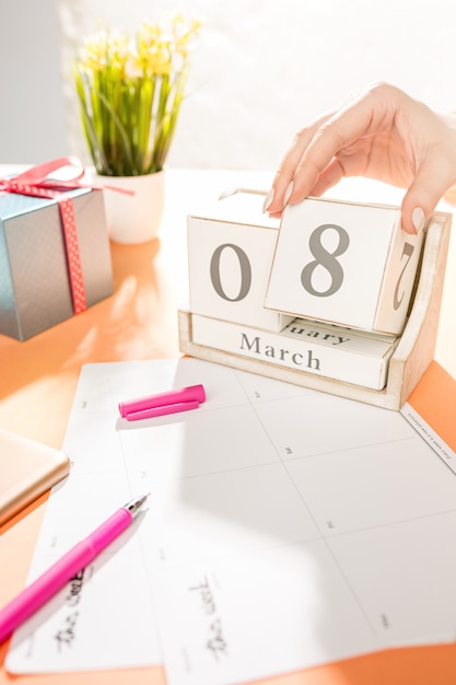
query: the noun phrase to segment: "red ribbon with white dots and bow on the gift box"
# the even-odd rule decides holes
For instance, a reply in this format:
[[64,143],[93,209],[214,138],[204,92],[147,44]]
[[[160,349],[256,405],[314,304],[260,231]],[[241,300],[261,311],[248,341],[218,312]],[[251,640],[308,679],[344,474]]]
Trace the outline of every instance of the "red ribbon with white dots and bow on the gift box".
[[[49,177],[50,174],[55,174],[57,171],[67,167],[73,172],[71,178],[58,181],[56,177]],[[62,189],[103,189],[101,186],[81,183],[80,179],[84,176],[84,167],[77,158],[63,156],[57,160],[51,160],[50,162],[45,162],[44,164],[38,164],[37,166],[32,166],[27,171],[12,178],[0,178],[0,193],[16,193],[19,195],[30,195],[33,197],[57,200],[63,228],[74,314],[79,314],[80,312],[86,310],[87,302],[82,274],[81,253],[79,248],[73,201],[71,197],[68,197],[68,195],[62,193]],[[131,194],[128,190],[120,191]]]

